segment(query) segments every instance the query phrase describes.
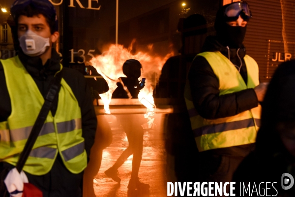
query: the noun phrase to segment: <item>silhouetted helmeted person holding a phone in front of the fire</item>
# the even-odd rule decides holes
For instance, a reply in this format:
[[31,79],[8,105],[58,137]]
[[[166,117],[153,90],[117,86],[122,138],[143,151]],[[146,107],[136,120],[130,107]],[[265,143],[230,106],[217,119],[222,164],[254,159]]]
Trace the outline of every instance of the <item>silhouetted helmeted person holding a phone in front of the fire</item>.
[[[141,75],[141,68],[142,65],[140,62],[134,59],[127,60],[123,64],[123,73],[127,77],[119,78],[123,84],[121,82],[117,83],[118,87],[114,91],[112,99],[128,99],[130,96],[133,99],[138,98],[140,90],[145,87],[145,84],[140,86],[140,81],[138,80]],[[108,177],[111,177],[114,181],[120,183],[121,179],[118,177],[118,168],[124,164],[130,155],[133,154],[132,172],[128,189],[148,189],[149,185],[142,183],[138,178],[143,154],[144,129],[142,124],[144,123],[144,115],[120,114],[116,115],[116,117],[127,135],[129,145],[120,155],[116,163],[105,171],[105,174]]]

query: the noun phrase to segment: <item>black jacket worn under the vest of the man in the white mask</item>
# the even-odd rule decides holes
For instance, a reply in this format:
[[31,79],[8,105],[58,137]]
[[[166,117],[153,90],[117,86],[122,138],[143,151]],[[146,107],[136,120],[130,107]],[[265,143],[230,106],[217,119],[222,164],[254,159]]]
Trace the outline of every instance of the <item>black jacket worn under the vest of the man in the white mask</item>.
[[[19,51],[19,58],[35,81],[40,93],[43,97],[45,97],[49,85],[54,78],[54,74],[60,69],[60,59],[58,53],[53,49],[51,59],[49,59],[44,66],[42,65],[42,61],[39,57],[29,57],[21,50]],[[63,67],[62,78],[71,87],[81,108],[82,136],[85,139],[85,150],[89,158],[90,148],[94,143],[97,126],[96,115],[89,88],[86,85],[84,76],[74,69]],[[53,115],[56,113],[57,104],[58,102],[55,102],[51,109]],[[0,63],[0,122],[6,121],[10,114],[11,101],[6,86],[3,66]]]

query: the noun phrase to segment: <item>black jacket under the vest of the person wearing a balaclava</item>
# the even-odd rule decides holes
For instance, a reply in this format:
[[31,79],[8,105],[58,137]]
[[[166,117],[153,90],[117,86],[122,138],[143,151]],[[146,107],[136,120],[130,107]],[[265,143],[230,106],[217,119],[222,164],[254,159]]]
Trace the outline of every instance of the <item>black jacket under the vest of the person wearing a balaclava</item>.
[[[228,49],[217,41],[215,36],[208,36],[202,49],[203,52],[220,51],[225,57],[236,65],[241,66],[240,74],[247,83],[247,68],[243,58],[246,55],[245,48]],[[237,68],[238,69],[238,68]],[[195,108],[198,113],[206,119],[217,119],[234,116],[243,111],[258,106],[258,99],[254,89],[246,89],[240,92],[219,96],[219,81],[214,74],[207,60],[202,56],[197,56],[190,67],[188,81],[191,87],[191,94]],[[245,150],[240,151],[240,147]],[[235,148],[223,148],[222,152],[229,155],[245,156],[251,145],[243,145]],[[231,150],[230,150],[231,149]],[[215,150],[219,151],[219,150]],[[229,152],[228,152],[229,151]],[[233,152],[234,151],[234,152]]]

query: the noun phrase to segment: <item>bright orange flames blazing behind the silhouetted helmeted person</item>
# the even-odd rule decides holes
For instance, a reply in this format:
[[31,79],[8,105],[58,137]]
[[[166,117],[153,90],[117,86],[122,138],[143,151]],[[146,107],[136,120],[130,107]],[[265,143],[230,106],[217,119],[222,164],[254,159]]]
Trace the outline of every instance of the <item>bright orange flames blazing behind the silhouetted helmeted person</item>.
[[167,54],[165,57],[151,55],[153,48],[151,44],[148,45],[148,52],[140,51],[132,55],[131,50],[134,42],[135,39],[132,41],[128,49],[124,48],[123,45],[112,44],[108,51],[105,51],[102,55],[96,56],[90,60],[92,66],[97,69],[97,72],[104,77],[109,85],[109,91],[99,95],[103,100],[106,113],[110,113],[109,104],[112,99],[112,94],[117,88],[116,83],[118,82],[118,78],[125,76],[122,71],[122,66],[128,59],[136,59],[143,66],[144,72],[142,73],[140,80],[146,78],[146,86],[140,91],[138,99],[147,108],[152,110],[152,106],[150,105],[154,105],[152,94],[161,75],[162,67],[167,59],[174,55],[173,52]]

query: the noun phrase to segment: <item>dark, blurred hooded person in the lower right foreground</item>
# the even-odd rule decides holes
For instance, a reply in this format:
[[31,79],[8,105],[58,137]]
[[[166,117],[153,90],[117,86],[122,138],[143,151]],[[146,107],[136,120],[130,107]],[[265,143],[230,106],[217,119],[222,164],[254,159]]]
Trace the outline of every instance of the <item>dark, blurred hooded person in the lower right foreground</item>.
[[260,183],[268,182],[267,195],[294,197],[294,178],[295,61],[290,61],[278,67],[269,83],[262,105],[256,150],[239,165],[233,181],[250,183],[250,188],[253,183],[258,187]]

